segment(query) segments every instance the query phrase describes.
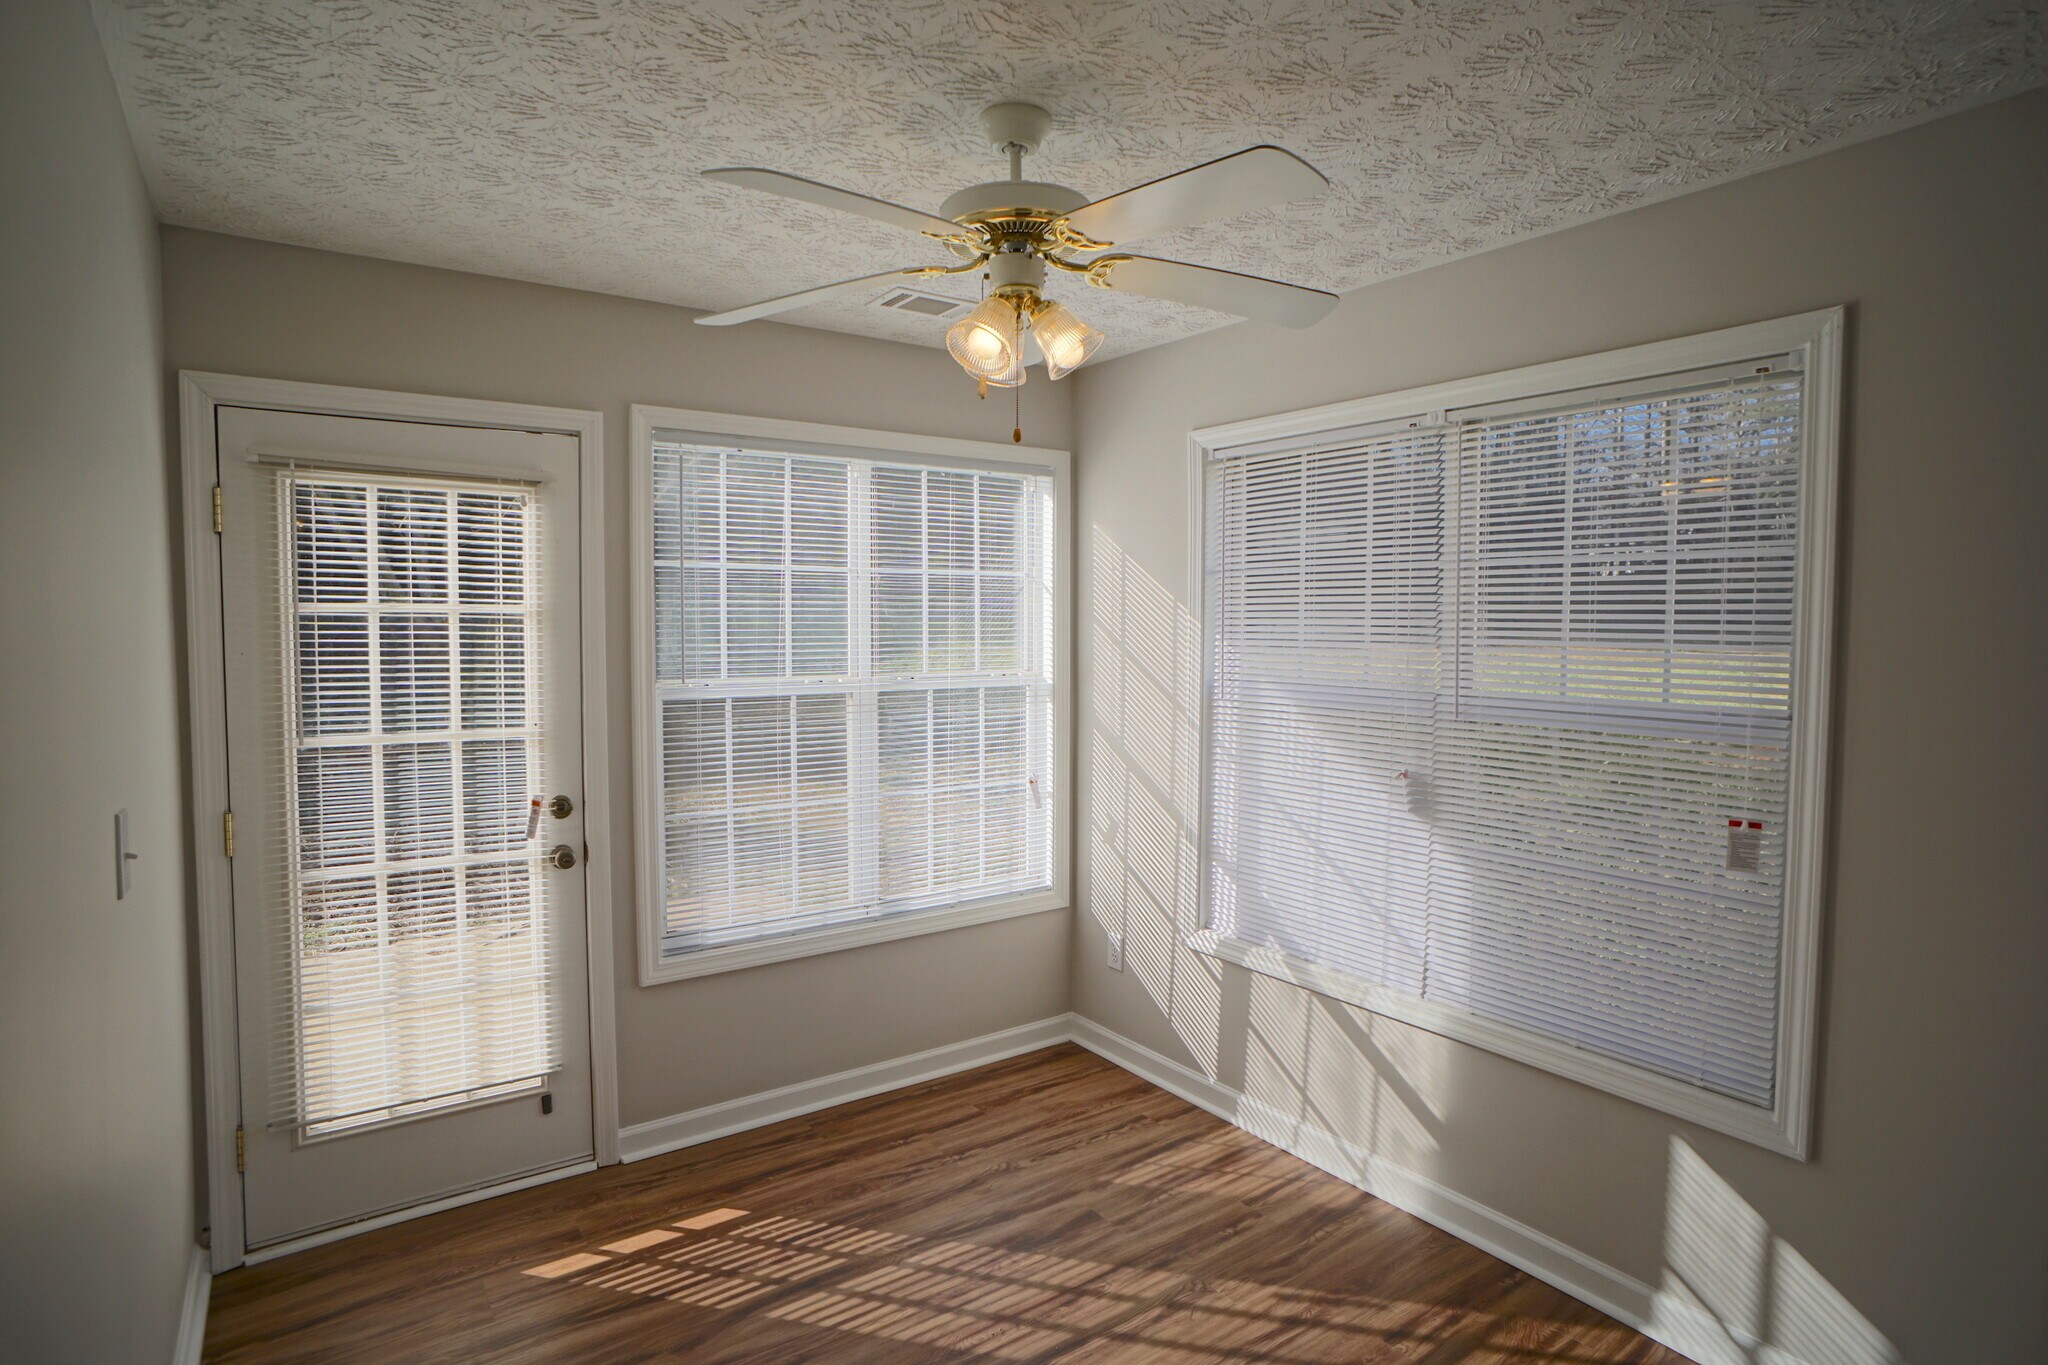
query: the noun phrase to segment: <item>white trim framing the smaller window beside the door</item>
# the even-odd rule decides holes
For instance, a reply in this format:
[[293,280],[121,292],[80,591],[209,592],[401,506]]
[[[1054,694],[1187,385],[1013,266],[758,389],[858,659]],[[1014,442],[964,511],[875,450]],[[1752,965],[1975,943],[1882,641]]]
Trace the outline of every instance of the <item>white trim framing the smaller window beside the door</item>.
[[[690,954],[664,956],[662,927],[662,763],[659,726],[653,686],[653,436],[655,432],[686,432],[705,440],[745,446],[750,442],[799,442],[803,446],[834,446],[862,458],[926,456],[961,460],[963,465],[1034,467],[1053,477],[1053,886],[1014,896],[987,896],[854,925],[831,925],[807,933],[705,948]],[[735,413],[696,411],[686,407],[633,405],[631,417],[631,497],[633,516],[633,794],[635,837],[639,839],[639,970],[641,984],[688,980],[713,972],[733,972],[768,962],[788,962],[817,954],[842,952],[864,943],[887,943],[920,933],[965,929],[1018,915],[1065,911],[1071,886],[1071,596],[1073,596],[1073,524],[1069,516],[1071,456],[1042,446],[1010,446],[946,436],[909,436],[874,432],[821,422],[784,422],[780,417],[745,417]]]

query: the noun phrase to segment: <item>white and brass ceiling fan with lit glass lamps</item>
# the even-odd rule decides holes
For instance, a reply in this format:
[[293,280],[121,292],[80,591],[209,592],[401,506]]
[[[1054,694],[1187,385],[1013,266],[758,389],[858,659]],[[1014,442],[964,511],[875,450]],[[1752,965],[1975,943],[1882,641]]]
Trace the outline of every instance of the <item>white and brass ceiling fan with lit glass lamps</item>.
[[840,209],[879,223],[907,227],[944,246],[961,264],[862,274],[696,321],[709,327],[727,327],[840,295],[854,295],[885,280],[981,270],[989,293],[973,313],[946,329],[946,348],[973,379],[981,381],[985,391],[987,385],[1016,387],[1024,383],[1026,332],[1044,354],[1051,379],[1061,379],[1077,368],[1102,344],[1100,332],[1075,317],[1065,305],[1044,297],[1047,266],[1079,274],[1100,289],[1194,303],[1284,327],[1307,327],[1335,307],[1337,297],[1319,289],[1190,266],[1178,260],[1110,252],[1114,246],[1153,233],[1251,213],[1327,190],[1329,182],[1292,151],[1249,147],[1090,203],[1063,184],[1024,178],[1024,156],[1044,141],[1044,133],[1053,125],[1047,111],[1036,104],[991,104],[981,111],[981,125],[995,147],[1010,156],[1010,178],[973,184],[940,205],[936,215],[801,176],[784,176],[776,170],[707,170],[707,176],[723,184],[801,199],[823,209]]

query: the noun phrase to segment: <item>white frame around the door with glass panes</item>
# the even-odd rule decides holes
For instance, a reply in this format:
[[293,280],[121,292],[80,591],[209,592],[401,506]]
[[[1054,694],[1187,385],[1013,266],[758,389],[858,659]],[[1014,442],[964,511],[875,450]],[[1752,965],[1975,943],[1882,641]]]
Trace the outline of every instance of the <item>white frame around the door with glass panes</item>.
[[[236,925],[221,817],[227,804],[227,677],[221,639],[221,559],[213,540],[217,479],[215,409],[268,407],[332,417],[383,417],[449,426],[553,432],[578,440],[582,673],[584,673],[584,894],[590,958],[590,1134],[600,1166],[618,1160],[618,1013],[612,1001],[610,731],[604,657],[604,413],[446,399],[383,389],[342,389],[285,379],[178,372],[184,465],[184,651],[193,763],[193,884],[199,917],[199,1027],[205,1078],[207,1222],[213,1271],[242,1265],[242,1177],[236,1128],[242,1072],[236,1064]],[[573,1173],[575,1166],[569,1169]],[[535,1183],[535,1181],[522,1181]],[[440,1201],[449,1203],[449,1201]],[[438,1205],[422,1205],[414,1214]],[[385,1216],[375,1224],[395,1222]],[[336,1232],[365,1230],[340,1228]],[[322,1236],[330,1240],[332,1234]]]

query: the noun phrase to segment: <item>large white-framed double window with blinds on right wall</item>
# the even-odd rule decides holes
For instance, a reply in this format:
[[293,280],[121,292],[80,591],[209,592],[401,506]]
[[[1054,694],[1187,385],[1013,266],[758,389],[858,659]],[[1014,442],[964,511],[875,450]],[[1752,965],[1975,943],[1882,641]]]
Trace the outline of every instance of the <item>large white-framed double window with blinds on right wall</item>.
[[1198,943],[1802,1152],[1837,325],[1200,432]]

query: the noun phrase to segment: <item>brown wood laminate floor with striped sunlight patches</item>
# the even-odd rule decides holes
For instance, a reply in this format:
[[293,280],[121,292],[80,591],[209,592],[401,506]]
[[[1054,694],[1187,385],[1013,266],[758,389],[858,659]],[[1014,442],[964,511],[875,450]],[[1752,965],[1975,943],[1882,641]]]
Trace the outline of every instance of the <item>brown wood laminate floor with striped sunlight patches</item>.
[[1073,1046],[229,1271],[205,1359],[1683,1365]]

